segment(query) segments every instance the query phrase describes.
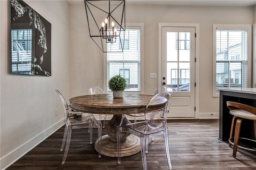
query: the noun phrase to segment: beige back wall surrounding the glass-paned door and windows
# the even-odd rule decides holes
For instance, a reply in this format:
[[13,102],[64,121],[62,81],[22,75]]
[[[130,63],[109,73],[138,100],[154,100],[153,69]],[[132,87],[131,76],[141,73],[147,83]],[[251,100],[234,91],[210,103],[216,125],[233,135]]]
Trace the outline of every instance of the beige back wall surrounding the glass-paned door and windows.
[[[70,97],[103,87],[103,53],[90,39],[84,5],[70,6]],[[212,24],[253,24],[252,7],[132,6],[126,2],[126,22],[144,23],[144,93],[151,94],[158,79],[158,23],[200,24],[199,113],[218,113],[212,97]]]

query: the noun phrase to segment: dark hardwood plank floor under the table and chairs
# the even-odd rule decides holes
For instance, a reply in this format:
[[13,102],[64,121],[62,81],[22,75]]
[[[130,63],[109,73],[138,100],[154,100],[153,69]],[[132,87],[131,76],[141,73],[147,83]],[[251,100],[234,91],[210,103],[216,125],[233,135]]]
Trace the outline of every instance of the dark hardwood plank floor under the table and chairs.
[[[218,140],[218,120],[168,120],[170,156],[173,170],[255,170],[256,152],[238,148],[236,158],[227,142]],[[141,153],[117,158],[102,155],[89,144],[87,129],[72,131],[70,149],[64,165],[60,152],[64,127],[16,161],[7,170],[143,170]],[[103,129],[103,134],[106,134]],[[97,138],[94,129],[93,140]],[[148,169],[167,170],[163,136],[149,144]]]

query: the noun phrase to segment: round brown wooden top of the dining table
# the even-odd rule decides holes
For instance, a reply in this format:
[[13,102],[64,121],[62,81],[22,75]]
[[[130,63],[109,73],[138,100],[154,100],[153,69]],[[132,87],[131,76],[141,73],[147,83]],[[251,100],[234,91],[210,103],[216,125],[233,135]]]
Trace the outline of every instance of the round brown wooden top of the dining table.
[[[125,94],[123,98],[113,98],[112,94],[84,95],[73,97],[69,100],[70,107],[74,110],[108,115],[144,113],[146,105],[153,95]],[[152,111],[165,106],[167,99],[162,97],[154,105]]]

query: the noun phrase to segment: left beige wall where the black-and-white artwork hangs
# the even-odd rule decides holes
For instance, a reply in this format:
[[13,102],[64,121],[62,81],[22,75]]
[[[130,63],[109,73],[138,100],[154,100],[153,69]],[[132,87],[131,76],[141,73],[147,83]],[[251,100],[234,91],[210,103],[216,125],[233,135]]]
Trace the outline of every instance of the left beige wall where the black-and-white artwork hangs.
[[[10,74],[10,1],[0,1],[0,169],[64,124],[55,92],[69,97],[69,9],[66,1],[25,2],[52,25],[52,76]],[[58,115],[55,116],[55,109]]]

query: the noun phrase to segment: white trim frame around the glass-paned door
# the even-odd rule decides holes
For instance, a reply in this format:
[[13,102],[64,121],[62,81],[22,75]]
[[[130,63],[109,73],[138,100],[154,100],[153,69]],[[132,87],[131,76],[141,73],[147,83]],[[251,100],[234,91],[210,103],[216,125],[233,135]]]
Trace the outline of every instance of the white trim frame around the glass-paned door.
[[[184,23],[158,23],[158,86],[162,86],[162,27],[193,27],[196,30],[196,40],[195,40],[195,118],[199,119],[199,27],[200,24],[184,24]],[[172,118],[175,119],[175,118]]]

